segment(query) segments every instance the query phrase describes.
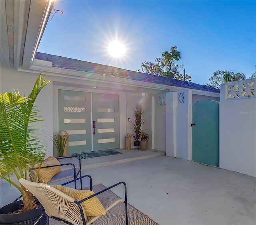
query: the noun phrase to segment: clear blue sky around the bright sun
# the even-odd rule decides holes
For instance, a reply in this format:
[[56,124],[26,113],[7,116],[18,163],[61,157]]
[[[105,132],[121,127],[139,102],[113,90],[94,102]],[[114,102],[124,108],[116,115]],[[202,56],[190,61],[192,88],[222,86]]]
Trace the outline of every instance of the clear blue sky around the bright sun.
[[[39,52],[138,71],[176,45],[177,63],[202,85],[218,69],[256,70],[256,1],[56,0],[53,8],[63,14],[50,16]],[[116,40],[122,57],[108,51]]]

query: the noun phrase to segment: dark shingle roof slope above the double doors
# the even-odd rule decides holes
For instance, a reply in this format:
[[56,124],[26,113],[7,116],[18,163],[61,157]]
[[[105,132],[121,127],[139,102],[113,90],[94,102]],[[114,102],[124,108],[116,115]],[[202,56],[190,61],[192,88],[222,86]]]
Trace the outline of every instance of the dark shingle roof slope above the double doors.
[[199,84],[188,82],[188,81],[181,81],[181,80],[171,79],[168,77],[152,75],[148,73],[141,73],[141,72],[131,71],[127,69],[120,69],[117,67],[102,65],[98,63],[90,63],[90,62],[81,61],[78,59],[70,59],[70,58],[66,58],[58,55],[50,55],[46,53],[37,52],[35,59],[50,61],[52,62],[52,67],[72,69],[76,71],[84,71],[88,73],[98,73],[102,75],[108,75],[111,77],[120,77],[120,78],[131,79],[135,81],[144,81],[144,82],[155,83],[160,85],[169,85],[169,86],[175,86],[175,87],[184,87],[189,89],[220,93],[219,89],[215,89],[213,87],[206,87],[206,89],[204,89],[204,85],[199,85]]

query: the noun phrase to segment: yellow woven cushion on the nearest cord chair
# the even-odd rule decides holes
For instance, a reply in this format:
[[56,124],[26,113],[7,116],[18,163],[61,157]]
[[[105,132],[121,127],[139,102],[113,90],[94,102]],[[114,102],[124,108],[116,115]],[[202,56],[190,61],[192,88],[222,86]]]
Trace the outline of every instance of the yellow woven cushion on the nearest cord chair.
[[[80,201],[94,194],[94,192],[90,190],[76,190],[74,188],[68,188],[62,185],[52,185],[52,187],[76,199],[76,201]],[[86,216],[106,215],[106,210],[96,196],[83,201],[81,205],[84,207]]]

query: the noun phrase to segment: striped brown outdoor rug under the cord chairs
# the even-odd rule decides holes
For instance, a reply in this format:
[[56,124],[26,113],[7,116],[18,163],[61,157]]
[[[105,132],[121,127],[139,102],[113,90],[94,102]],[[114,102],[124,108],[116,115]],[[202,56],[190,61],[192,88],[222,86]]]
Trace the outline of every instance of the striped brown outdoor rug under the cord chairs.
[[[103,184],[97,184],[92,186],[92,191],[95,193],[106,188]],[[123,188],[123,187],[122,187]],[[89,189],[83,188],[83,189]],[[114,192],[107,190],[103,192],[102,197],[108,197],[113,199],[119,199]],[[97,195],[100,199],[101,196]],[[49,218],[49,225],[63,225],[60,221],[55,219]],[[154,222],[148,216],[144,215],[138,209],[134,208],[132,205],[128,203],[128,224],[129,225],[159,225],[158,223]],[[93,225],[125,225],[125,203],[118,203],[112,209],[108,210],[106,215],[103,215],[96,219],[93,222]]]

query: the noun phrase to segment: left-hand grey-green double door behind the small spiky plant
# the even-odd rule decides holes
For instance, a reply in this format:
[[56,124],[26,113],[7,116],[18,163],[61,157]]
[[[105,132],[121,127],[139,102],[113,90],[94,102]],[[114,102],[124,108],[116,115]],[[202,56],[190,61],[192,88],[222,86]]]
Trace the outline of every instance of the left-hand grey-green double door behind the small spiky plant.
[[58,90],[59,130],[66,130],[68,153],[92,151],[91,93]]

